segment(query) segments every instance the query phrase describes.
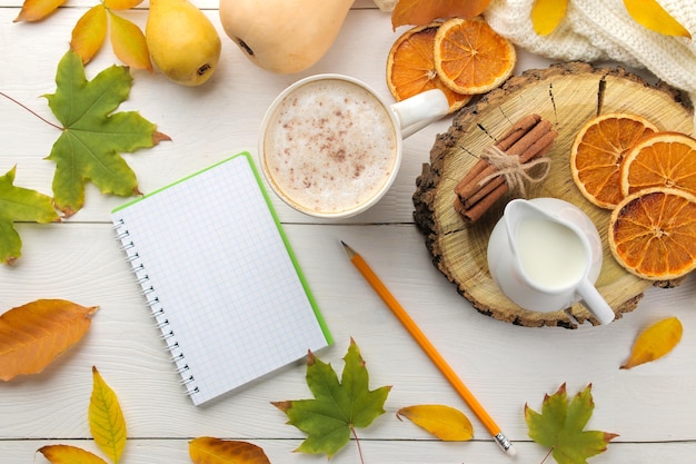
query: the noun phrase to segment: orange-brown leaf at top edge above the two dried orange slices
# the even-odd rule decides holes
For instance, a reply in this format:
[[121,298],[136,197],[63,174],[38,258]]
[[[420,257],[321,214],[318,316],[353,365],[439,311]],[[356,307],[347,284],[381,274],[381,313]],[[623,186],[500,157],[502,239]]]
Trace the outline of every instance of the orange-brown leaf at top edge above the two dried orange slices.
[[471,19],[488,3],[490,0],[399,0],[391,11],[391,27],[424,26],[438,18]]

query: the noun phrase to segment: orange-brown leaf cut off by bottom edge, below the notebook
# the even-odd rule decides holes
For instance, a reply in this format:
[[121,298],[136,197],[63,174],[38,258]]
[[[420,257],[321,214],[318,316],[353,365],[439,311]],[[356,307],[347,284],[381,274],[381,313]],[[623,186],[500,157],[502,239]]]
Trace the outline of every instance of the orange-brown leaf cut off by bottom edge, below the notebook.
[[210,436],[191,440],[189,455],[193,464],[270,464],[259,446]]

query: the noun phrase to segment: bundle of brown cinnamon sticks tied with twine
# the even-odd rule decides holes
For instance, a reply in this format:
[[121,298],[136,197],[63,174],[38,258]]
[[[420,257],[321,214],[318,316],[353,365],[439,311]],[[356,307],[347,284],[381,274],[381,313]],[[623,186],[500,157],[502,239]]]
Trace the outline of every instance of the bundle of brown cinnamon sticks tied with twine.
[[[548,154],[557,132],[539,115],[528,115],[517,121],[455,187],[455,209],[469,223],[478,220],[510,188],[510,177],[503,175],[497,157],[510,161],[511,169],[525,171],[535,160]],[[511,157],[507,159],[507,157]],[[517,166],[517,167],[515,167]],[[514,181],[515,182],[515,181]]]

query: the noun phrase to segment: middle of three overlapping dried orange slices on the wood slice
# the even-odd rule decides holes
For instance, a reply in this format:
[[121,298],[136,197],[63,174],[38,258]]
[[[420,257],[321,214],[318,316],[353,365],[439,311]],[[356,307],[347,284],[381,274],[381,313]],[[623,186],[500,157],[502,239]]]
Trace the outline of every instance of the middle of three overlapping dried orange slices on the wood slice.
[[680,132],[654,134],[635,146],[622,164],[622,192],[674,187],[696,195],[696,140]]

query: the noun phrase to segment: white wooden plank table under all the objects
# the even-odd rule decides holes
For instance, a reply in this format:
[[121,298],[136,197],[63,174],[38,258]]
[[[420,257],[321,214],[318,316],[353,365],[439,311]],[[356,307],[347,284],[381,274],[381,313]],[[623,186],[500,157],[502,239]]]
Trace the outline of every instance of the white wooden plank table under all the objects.
[[[67,51],[70,31],[90,0],[69,0],[48,20],[12,23],[20,0],[0,0],[0,90],[54,120],[44,93],[56,90],[54,73]],[[257,129],[265,109],[287,85],[318,72],[360,78],[385,97],[386,57],[401,30],[389,14],[359,0],[329,53],[297,76],[267,73],[223,36],[217,2],[199,3],[223,39],[219,69],[206,86],[185,88],[161,75],[133,71],[131,96],[119,110],[138,110],[171,136],[149,150],[126,155],[143,192],[249,150],[257,156]],[[125,13],[145,26],[147,2]],[[87,68],[88,78],[117,62],[105,46]],[[517,72],[547,61],[521,53]],[[412,136],[405,161],[386,198],[368,213],[340,223],[316,221],[290,210],[275,196],[300,265],[336,338],[321,358],[342,368],[350,337],[359,345],[370,386],[392,385],[387,413],[358,431],[367,463],[507,463],[480,422],[456,395],[420,348],[348,261],[339,240],[361,251],[422,330],[465,379],[518,450],[517,462],[540,463],[547,450],[531,442],[524,406],[539,409],[546,393],[567,383],[570,395],[593,385],[596,408],[588,428],[617,433],[596,463],[687,463],[696,454],[696,283],[650,289],[638,308],[605,326],[577,330],[525,328],[483,316],[432,266],[424,237],[412,223],[411,195],[421,164],[450,119]],[[17,166],[16,185],[51,194],[54,170],[44,160],[59,132],[0,99],[0,171]],[[195,407],[183,394],[173,365],[125,263],[109,211],[123,198],[87,188],[86,207],[53,225],[19,224],[23,256],[0,267],[0,310],[38,298],[64,298],[99,305],[86,338],[42,374],[0,384],[0,462],[44,462],[36,451],[47,444],[72,444],[100,454],[91,441],[87,406],[97,366],[117,392],[128,423],[126,464],[189,463],[188,441],[202,435],[243,440],[264,447],[272,463],[319,463],[322,456],[292,453],[304,438],[286,425],[271,401],[311,397],[301,364],[272,378]],[[635,336],[667,316],[684,324],[680,345],[666,358],[619,371]],[[398,408],[446,404],[465,412],[475,438],[465,443],[434,440]],[[358,463],[355,443],[332,462]]]

